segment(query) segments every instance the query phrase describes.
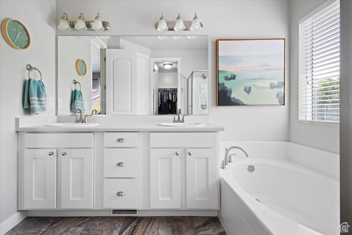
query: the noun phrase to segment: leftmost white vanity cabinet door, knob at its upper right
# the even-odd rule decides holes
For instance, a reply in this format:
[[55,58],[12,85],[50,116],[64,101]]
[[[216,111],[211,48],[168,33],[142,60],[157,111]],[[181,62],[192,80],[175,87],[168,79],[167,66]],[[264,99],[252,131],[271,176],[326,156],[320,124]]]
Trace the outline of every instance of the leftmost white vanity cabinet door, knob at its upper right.
[[24,209],[56,208],[56,149],[24,150]]

